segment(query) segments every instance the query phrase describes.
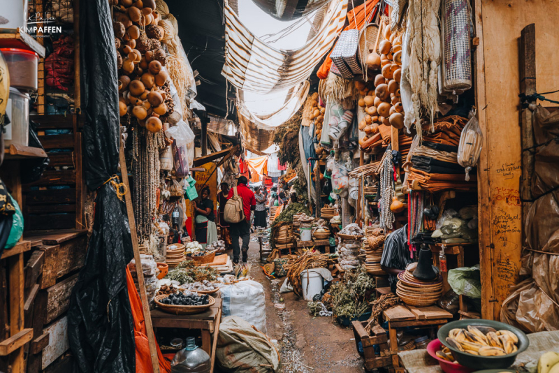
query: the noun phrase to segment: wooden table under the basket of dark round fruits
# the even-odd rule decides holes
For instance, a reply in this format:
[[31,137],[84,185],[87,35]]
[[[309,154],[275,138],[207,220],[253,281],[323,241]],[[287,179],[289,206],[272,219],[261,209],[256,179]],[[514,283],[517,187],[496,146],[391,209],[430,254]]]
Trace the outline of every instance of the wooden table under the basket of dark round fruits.
[[221,322],[222,299],[217,298],[215,305],[201,314],[194,315],[174,315],[161,311],[159,308],[153,309],[152,324],[154,328],[182,328],[198,329],[202,335],[202,349],[212,356],[212,333]]

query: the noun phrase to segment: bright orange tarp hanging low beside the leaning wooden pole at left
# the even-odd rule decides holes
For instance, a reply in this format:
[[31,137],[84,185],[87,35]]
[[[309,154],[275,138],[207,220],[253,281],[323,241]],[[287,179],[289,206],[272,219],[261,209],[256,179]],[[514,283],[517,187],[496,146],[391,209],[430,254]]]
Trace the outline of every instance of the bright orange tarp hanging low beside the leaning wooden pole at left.
[[[142,300],[134,285],[134,280],[130,274],[128,266],[126,266],[126,285],[128,286],[128,296],[130,298],[130,307],[134,318],[134,341],[136,342],[136,373],[153,373],[152,360],[150,358],[150,342],[147,339],[145,329],[145,319],[142,310]],[[157,358],[159,359],[159,372],[170,373],[170,363],[165,360],[157,346]]]

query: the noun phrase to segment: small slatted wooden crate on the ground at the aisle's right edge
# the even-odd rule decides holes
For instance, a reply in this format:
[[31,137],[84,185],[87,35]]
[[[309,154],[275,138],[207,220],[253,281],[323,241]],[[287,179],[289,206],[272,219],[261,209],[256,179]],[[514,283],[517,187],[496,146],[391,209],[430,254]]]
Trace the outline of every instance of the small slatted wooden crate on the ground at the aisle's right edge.
[[[363,358],[365,359],[365,368],[372,370],[380,367],[390,367],[392,358],[390,355],[388,338],[386,330],[381,326],[372,327],[371,333],[365,331],[367,321],[353,321],[351,326],[354,328],[355,346],[359,349],[359,342],[363,346]],[[379,346],[380,353],[375,353],[375,345]]]

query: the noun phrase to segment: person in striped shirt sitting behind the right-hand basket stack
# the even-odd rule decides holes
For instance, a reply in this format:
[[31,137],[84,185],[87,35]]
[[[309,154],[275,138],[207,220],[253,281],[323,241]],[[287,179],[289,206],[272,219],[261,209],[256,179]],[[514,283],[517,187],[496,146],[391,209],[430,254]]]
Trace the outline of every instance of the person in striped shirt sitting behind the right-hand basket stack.
[[414,259],[409,255],[406,224],[386,237],[380,261],[382,270],[389,274],[390,288],[393,293],[396,293],[398,273],[404,271],[411,263],[414,263]]

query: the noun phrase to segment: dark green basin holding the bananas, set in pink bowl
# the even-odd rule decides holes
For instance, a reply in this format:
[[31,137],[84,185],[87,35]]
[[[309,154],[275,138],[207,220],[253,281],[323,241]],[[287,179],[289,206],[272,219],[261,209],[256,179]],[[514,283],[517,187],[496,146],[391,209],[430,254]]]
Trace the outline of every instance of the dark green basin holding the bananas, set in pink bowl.
[[[467,329],[467,326],[469,325],[491,326],[491,328],[495,328],[496,330],[504,329],[514,332],[514,334],[516,334],[516,336],[518,337],[518,351],[503,356],[476,356],[470,353],[458,351],[457,349],[454,349],[452,346],[450,346],[447,342],[447,337],[449,336],[450,330],[454,328]],[[444,346],[447,346],[450,349],[452,355],[460,365],[464,365],[465,367],[470,367],[477,370],[504,369],[510,367],[514,363],[514,360],[516,360],[516,356],[518,355],[518,353],[521,353],[525,349],[528,349],[528,345],[530,344],[530,340],[520,329],[514,328],[514,326],[510,326],[505,323],[500,323],[498,321],[481,319],[459,320],[447,323],[439,329],[437,337],[439,337],[439,340],[442,344],[444,344]]]

